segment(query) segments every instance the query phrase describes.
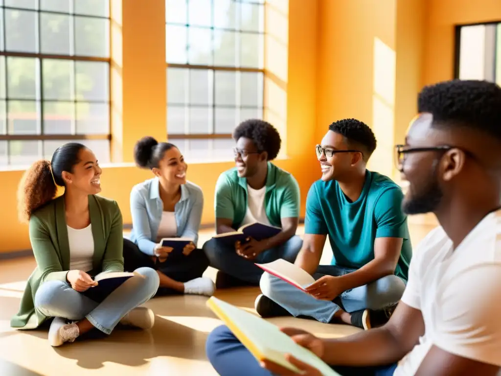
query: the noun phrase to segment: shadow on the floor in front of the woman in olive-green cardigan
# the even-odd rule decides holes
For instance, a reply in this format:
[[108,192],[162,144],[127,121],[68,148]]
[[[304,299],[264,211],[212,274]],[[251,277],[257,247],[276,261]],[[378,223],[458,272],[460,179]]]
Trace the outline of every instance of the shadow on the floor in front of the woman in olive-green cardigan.
[[76,341],[54,350],[87,369],[101,368],[104,362],[140,366],[158,356],[206,360],[206,337],[204,332],[156,316],[151,330],[117,329],[107,338]]

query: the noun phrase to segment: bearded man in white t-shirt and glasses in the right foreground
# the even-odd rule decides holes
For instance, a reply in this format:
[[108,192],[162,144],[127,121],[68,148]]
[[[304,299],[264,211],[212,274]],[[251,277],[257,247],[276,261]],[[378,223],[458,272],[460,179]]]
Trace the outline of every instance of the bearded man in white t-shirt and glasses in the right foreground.
[[[342,376],[495,376],[501,370],[501,88],[447,81],[419,94],[420,115],[399,170],[410,183],[407,214],[440,226],[419,244],[404,295],[388,323],[337,339],[282,329]],[[262,368],[224,326],[207,340],[221,376],[292,374]],[[305,376],[317,369],[290,359]],[[236,372],[236,373],[235,373]]]

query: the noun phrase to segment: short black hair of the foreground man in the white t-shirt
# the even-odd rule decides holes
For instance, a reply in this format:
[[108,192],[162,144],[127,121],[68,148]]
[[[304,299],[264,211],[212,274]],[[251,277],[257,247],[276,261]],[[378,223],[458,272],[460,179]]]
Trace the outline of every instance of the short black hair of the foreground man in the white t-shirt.
[[433,115],[433,126],[465,126],[501,140],[501,88],[488,81],[450,80],[425,86],[418,112]]

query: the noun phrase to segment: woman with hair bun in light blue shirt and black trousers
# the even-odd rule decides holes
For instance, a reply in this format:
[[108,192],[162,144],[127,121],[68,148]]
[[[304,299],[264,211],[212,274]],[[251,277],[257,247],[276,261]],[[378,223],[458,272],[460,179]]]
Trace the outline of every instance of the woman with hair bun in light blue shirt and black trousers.
[[[136,247],[125,247],[125,269],[155,268],[160,277],[157,295],[212,295],[214,283],[202,277],[209,260],[196,248],[203,194],[198,185],[186,180],[183,155],[175,145],[147,136],[136,143],[134,158],[155,177],[135,185],[130,194],[130,242]],[[162,238],[189,238],[192,243],[182,255],[169,257],[172,248],[162,247]]]

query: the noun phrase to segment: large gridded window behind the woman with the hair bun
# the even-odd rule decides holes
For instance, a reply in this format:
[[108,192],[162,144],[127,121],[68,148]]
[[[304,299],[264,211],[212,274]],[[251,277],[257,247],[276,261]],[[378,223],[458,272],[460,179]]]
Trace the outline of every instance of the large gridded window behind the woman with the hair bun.
[[167,129],[190,157],[227,157],[263,118],[264,0],[166,0]]

